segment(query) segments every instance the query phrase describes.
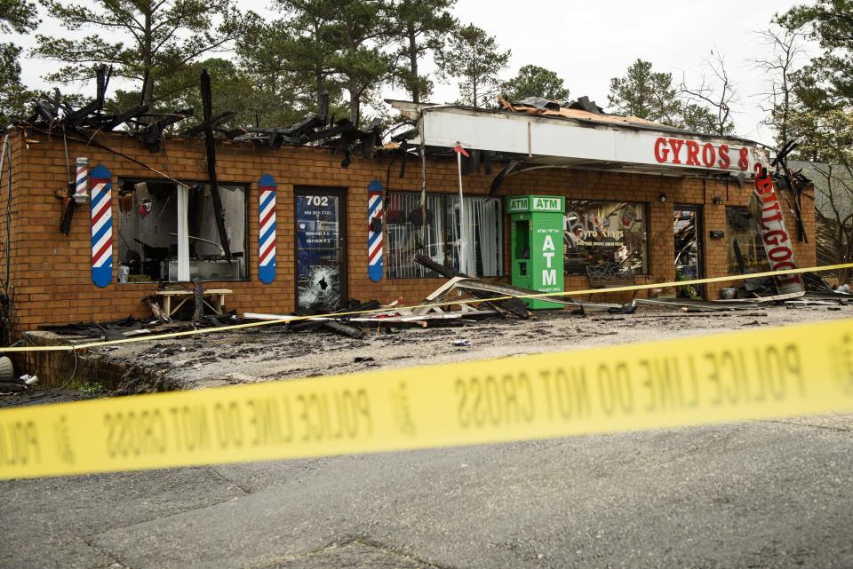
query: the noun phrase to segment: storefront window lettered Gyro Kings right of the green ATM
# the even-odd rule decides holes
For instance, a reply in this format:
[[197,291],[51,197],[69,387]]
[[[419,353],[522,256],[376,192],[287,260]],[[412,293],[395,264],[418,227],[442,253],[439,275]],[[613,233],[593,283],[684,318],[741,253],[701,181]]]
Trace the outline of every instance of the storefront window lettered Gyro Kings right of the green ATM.
[[566,201],[563,217],[566,274],[587,265],[618,263],[648,273],[646,207],[641,202]]

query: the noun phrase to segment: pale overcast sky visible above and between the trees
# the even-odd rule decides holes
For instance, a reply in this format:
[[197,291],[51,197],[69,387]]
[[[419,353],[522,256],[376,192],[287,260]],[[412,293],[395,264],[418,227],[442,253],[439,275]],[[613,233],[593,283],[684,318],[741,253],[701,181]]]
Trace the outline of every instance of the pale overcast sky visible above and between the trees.
[[[267,2],[243,0],[239,4],[243,9],[270,13]],[[523,65],[547,67],[563,78],[572,98],[587,95],[605,108],[610,78],[625,75],[637,58],[651,61],[658,71],[671,72],[676,83],[686,74],[690,84],[700,80],[711,51],[720,52],[737,84],[738,100],[733,107],[737,134],[771,142],[772,134],[759,124],[763,118],[760,93],[766,91],[766,78],[751,60],[769,53],[756,31],[793,4],[792,0],[538,0],[530,4],[458,0],[455,13],[459,20],[473,22],[496,36],[502,49],[513,51],[506,78]],[[49,17],[43,20],[39,33],[65,33]],[[31,47],[34,38],[13,36],[13,41]],[[25,83],[44,87],[40,76],[55,64],[25,58],[22,67]],[[405,97],[391,90],[385,94]],[[432,99],[446,102],[457,98],[457,86],[451,84],[438,85]]]

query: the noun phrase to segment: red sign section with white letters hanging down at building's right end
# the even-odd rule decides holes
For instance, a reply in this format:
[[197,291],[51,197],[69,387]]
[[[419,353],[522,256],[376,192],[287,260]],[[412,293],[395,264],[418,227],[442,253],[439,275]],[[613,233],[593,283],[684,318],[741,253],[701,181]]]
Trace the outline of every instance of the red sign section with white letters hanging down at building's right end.
[[[773,178],[761,164],[755,165],[755,189],[749,203],[756,223],[771,271],[785,271],[797,268],[793,255],[790,236],[785,229],[782,204],[779,202]],[[802,292],[802,279],[799,274],[786,274],[777,277],[779,294]]]

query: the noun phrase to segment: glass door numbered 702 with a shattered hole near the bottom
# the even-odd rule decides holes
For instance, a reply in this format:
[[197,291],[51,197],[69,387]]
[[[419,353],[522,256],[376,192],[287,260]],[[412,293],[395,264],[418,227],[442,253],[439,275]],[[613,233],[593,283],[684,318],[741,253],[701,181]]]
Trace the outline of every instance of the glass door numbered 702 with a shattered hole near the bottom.
[[347,227],[344,194],[329,188],[296,188],[296,310],[339,310],[347,298]]

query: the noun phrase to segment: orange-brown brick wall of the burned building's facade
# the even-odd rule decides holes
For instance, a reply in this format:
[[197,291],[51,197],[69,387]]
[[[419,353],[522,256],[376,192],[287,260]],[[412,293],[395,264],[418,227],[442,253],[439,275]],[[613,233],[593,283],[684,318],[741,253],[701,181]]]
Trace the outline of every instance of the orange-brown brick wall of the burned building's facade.
[[[68,156],[72,162],[76,156],[88,157],[90,168],[106,165],[113,173],[114,184],[119,178],[159,178],[154,171],[134,160],[182,181],[203,181],[206,178],[201,141],[169,139],[163,151],[155,154],[121,134],[100,134],[97,140],[126,157],[73,139],[68,140]],[[239,312],[286,313],[294,310],[294,186],[326,186],[345,190],[349,296],[381,301],[403,296],[407,304],[414,304],[442,284],[443,279],[383,279],[374,283],[367,276],[367,186],[374,178],[379,178],[383,186],[387,186],[390,179],[392,190],[419,191],[419,163],[411,162],[405,177],[399,178],[399,160],[392,163],[390,157],[378,157],[364,161],[354,156],[349,168],[343,169],[339,166],[341,158],[341,155],[332,156],[329,151],[309,147],[285,146],[269,150],[248,143],[218,143],[220,183],[247,184],[250,188],[246,258],[250,280],[208,285],[234,290],[234,295],[228,299],[228,308]],[[114,278],[107,288],[96,288],[92,284],[88,204],[77,209],[68,237],[59,232],[60,202],[54,197],[54,191],[67,185],[62,138],[29,133],[25,139],[18,131],[13,137],[12,160],[12,233],[9,234],[9,250],[2,251],[0,271],[4,271],[5,257],[10,256],[16,328],[25,330],[44,324],[108,320],[129,314],[149,316],[147,306],[141,301],[155,290],[155,283],[118,284]],[[427,191],[457,191],[455,161],[430,159],[427,172]],[[278,184],[278,266],[276,280],[268,286],[260,283],[257,277],[258,180],[265,173],[272,175]],[[466,194],[486,194],[491,178],[485,175],[466,176]],[[501,190],[504,195],[562,194],[569,199],[647,202],[650,271],[640,277],[639,282],[674,279],[672,208],[676,203],[703,205],[706,275],[726,274],[726,240],[711,240],[709,234],[711,230],[725,231],[725,206],[745,205],[750,192],[748,185],[741,189],[737,184],[703,178],[593,170],[534,170],[507,178]],[[5,202],[5,194],[5,186],[0,185],[0,202]],[[114,187],[114,228],[118,223],[116,194]],[[659,194],[666,194],[666,203],[658,201]],[[714,197],[721,198],[721,204],[714,205]],[[815,262],[813,200],[806,196],[802,205],[809,243],[796,242],[794,249],[800,265],[808,266]],[[508,218],[504,226],[505,272],[508,273]],[[788,227],[795,234],[790,216]],[[5,241],[4,215],[0,215],[0,236]],[[114,247],[114,256],[113,266],[117,267],[118,247]],[[725,285],[709,286],[707,296],[719,297],[721,286]],[[567,290],[586,288],[586,277],[566,277],[565,287]]]

